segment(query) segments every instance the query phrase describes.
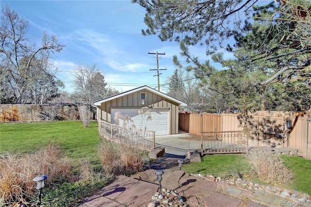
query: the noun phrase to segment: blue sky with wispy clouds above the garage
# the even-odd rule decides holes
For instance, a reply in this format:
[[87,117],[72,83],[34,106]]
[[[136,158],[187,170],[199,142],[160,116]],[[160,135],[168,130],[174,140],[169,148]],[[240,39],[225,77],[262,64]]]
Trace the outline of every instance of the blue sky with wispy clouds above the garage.
[[[52,58],[56,76],[73,92],[74,68],[96,64],[108,86],[120,92],[138,86],[157,89],[155,55],[159,52],[160,84],[173,74],[172,56],[179,55],[176,42],[161,42],[156,35],[143,36],[145,10],[130,0],[1,0],[29,21],[28,35],[39,43],[44,31],[56,35],[66,47]],[[190,52],[207,59],[206,47]],[[161,86],[166,92],[167,87]]]

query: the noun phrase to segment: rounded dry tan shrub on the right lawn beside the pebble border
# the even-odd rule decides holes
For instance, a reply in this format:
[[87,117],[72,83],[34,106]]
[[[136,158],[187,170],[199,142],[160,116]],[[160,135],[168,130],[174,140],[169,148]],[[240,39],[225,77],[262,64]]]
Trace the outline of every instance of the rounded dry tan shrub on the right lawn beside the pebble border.
[[293,173],[280,161],[279,155],[262,149],[253,149],[247,155],[253,175],[268,183],[288,183],[293,180]]

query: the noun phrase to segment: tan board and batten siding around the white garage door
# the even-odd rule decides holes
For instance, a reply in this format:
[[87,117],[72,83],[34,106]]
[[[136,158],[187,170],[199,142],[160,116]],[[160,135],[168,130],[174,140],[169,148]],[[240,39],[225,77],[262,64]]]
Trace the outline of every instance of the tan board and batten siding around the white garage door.
[[[140,100],[140,92],[146,93],[146,99],[144,105],[142,105]],[[98,107],[99,118],[111,122],[111,109],[112,108],[169,108],[170,118],[169,118],[169,131],[170,134],[178,134],[178,103],[166,99],[160,95],[157,95],[151,91],[142,89],[130,94],[126,94],[116,99],[102,103]]]

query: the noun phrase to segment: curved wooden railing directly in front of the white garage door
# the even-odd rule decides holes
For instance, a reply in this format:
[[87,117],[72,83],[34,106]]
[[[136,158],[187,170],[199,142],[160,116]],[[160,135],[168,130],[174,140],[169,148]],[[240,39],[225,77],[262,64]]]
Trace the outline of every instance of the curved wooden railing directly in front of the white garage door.
[[133,127],[122,127],[100,120],[100,134],[113,142],[151,151],[155,149],[155,132]]

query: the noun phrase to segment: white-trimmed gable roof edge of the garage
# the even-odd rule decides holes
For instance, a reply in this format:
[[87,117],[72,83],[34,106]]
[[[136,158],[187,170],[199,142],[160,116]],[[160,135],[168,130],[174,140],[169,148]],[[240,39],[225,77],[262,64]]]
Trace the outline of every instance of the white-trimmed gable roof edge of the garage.
[[141,87],[138,87],[138,88],[134,88],[134,89],[132,89],[132,90],[128,90],[128,91],[125,91],[125,92],[123,92],[123,93],[119,93],[119,94],[117,94],[117,95],[110,96],[110,97],[104,98],[104,99],[102,99],[102,100],[93,102],[92,105],[101,105],[101,104],[104,103],[104,102],[107,102],[107,101],[110,101],[110,100],[113,100],[113,99],[117,99],[117,98],[119,98],[119,97],[128,95],[128,94],[130,94],[130,93],[134,93],[134,92],[139,91],[139,90],[142,90],[142,89],[149,90],[150,92],[153,92],[153,93],[155,93],[155,94],[157,94],[157,95],[159,95],[159,96],[162,96],[162,97],[164,97],[164,98],[166,98],[166,99],[169,99],[169,100],[171,100],[171,101],[173,101],[173,102],[176,102],[176,103],[178,103],[179,105],[183,105],[183,106],[186,106],[186,105],[187,105],[186,103],[184,103],[184,102],[182,102],[182,101],[179,101],[179,100],[177,100],[177,99],[174,99],[173,97],[171,97],[171,96],[169,96],[169,95],[166,95],[165,93],[162,93],[162,92],[160,92],[160,91],[158,91],[158,90],[155,90],[155,89],[153,89],[153,88],[151,88],[151,87],[149,87],[149,86],[141,86]]

